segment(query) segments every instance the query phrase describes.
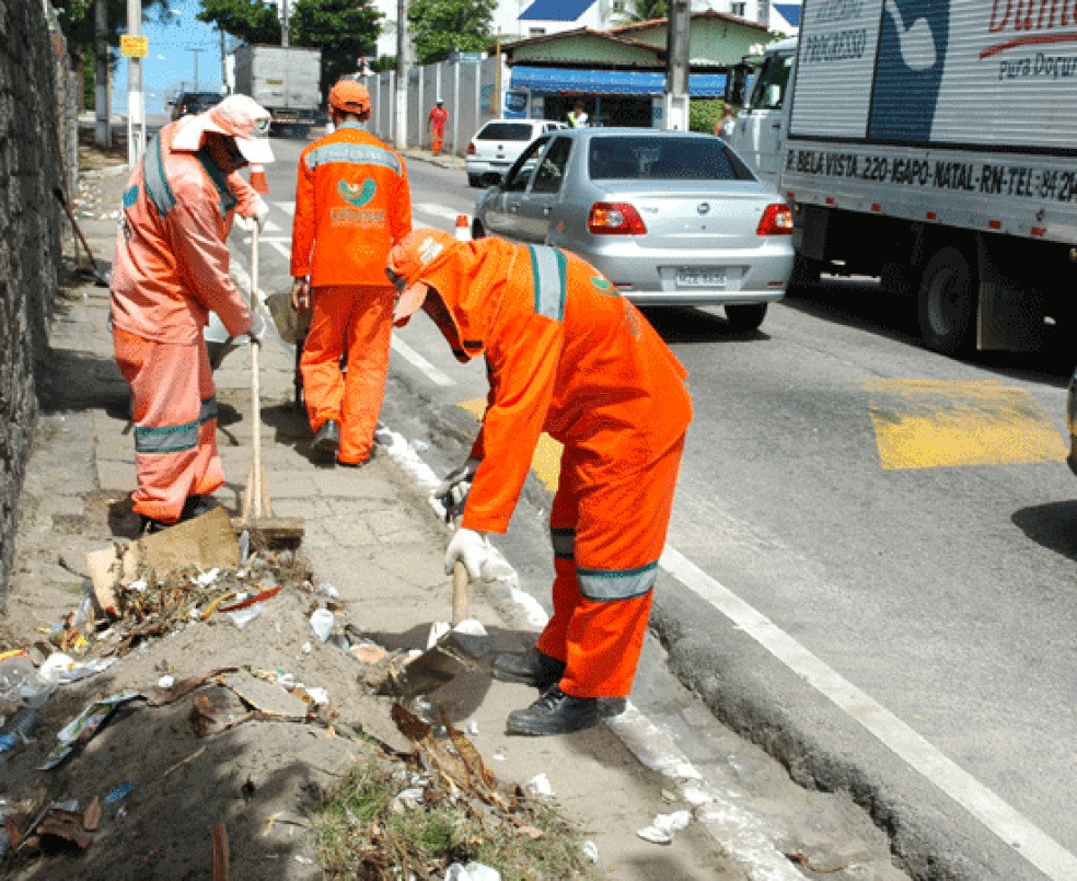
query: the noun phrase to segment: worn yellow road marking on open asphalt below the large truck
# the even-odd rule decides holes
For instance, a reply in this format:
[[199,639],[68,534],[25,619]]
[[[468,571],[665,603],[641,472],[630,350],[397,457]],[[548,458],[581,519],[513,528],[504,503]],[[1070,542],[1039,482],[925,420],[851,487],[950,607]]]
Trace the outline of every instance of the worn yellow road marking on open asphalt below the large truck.
[[887,470],[1058,462],[1068,452],[1031,394],[995,380],[871,380],[879,459]]

